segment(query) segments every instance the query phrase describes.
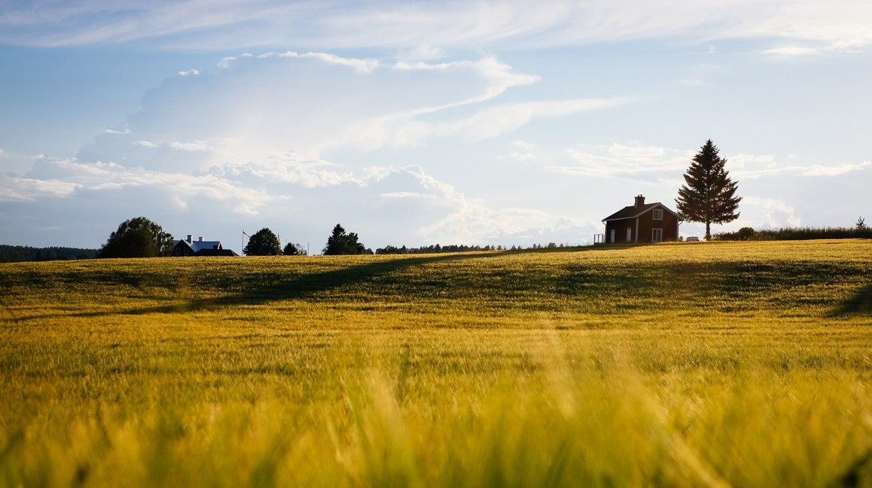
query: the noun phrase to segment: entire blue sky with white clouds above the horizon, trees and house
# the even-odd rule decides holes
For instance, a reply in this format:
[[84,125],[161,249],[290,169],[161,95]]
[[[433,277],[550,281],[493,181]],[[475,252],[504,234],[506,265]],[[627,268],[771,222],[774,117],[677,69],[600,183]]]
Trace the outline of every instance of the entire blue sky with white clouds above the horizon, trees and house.
[[708,139],[713,232],[872,220],[870,2],[12,0],[0,72],[0,244],[590,244]]

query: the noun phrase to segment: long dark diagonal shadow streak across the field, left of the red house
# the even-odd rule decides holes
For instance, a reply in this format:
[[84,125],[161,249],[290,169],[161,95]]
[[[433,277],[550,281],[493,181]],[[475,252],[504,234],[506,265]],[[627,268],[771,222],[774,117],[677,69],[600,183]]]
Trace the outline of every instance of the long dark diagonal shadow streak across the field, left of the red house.
[[[308,273],[302,275],[283,274],[281,271],[255,273],[242,283],[243,291],[217,299],[190,299],[184,303],[166,306],[149,306],[127,310],[124,314],[145,313],[186,313],[221,306],[263,305],[285,299],[306,299],[319,293],[363,284],[373,279],[413,266],[446,261],[461,261],[501,256],[497,253],[452,254],[446,256],[425,256],[378,260],[364,265],[343,267],[341,269]],[[238,284],[237,284],[238,285]],[[96,315],[102,313],[95,313]]]

